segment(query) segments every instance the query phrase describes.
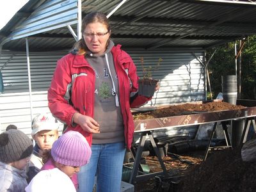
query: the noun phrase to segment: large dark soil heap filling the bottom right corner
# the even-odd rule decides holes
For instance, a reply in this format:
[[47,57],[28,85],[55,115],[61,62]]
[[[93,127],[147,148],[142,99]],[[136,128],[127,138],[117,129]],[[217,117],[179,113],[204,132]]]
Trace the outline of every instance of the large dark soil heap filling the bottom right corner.
[[256,163],[242,161],[241,150],[220,150],[190,168],[177,191],[256,191]]

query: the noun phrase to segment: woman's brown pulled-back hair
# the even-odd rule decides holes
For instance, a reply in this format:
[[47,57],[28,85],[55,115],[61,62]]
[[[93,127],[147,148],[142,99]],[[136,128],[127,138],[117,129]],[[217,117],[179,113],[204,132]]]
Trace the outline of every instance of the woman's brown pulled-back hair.
[[[106,25],[108,31],[110,31],[109,21],[108,21],[108,18],[106,17],[106,15],[104,15],[103,13],[100,13],[100,12],[91,12],[91,13],[88,13],[83,18],[81,32],[83,33],[86,26],[93,22],[100,22],[101,24]],[[84,51],[88,51],[88,47],[86,46],[83,38],[81,38],[79,41],[77,41],[74,44],[72,50],[74,50],[74,49],[78,49],[78,50],[84,49]]]

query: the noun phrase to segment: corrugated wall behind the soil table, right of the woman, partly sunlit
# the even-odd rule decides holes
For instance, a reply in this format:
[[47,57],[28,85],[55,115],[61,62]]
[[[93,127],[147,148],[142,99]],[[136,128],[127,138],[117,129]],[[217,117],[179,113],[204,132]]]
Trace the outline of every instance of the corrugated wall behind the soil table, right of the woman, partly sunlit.
[[144,58],[144,65],[156,65],[162,58],[159,68],[152,73],[155,79],[160,79],[159,92],[148,102],[147,106],[174,104],[205,100],[204,68],[193,56],[192,52],[202,60],[202,50],[183,51],[130,51],[134,63],[137,65],[138,76],[142,77],[140,57]]

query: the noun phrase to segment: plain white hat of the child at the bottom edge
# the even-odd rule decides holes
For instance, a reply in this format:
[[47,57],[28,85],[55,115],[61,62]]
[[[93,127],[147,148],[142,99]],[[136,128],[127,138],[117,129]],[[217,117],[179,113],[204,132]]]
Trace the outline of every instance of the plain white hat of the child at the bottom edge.
[[76,188],[68,175],[58,168],[40,171],[25,188],[26,192],[76,192]]

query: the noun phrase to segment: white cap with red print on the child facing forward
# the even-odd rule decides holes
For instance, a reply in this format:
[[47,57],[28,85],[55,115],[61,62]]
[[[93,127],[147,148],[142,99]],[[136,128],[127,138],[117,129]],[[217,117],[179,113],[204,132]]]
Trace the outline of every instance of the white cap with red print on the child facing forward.
[[58,128],[58,120],[51,113],[44,113],[33,118],[31,134],[34,135],[43,130],[57,130]]

